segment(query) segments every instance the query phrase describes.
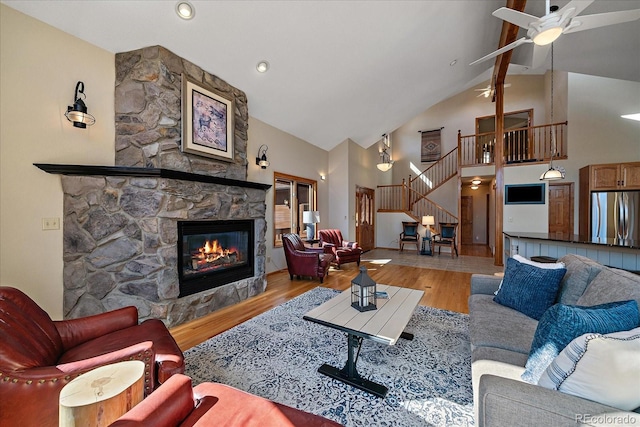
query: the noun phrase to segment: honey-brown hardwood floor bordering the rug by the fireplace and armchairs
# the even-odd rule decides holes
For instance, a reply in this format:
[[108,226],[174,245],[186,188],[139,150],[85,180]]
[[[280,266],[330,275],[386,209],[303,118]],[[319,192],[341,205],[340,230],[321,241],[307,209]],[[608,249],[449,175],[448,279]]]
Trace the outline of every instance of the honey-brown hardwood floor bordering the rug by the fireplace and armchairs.
[[[468,313],[471,273],[365,261],[361,265],[378,283],[424,290],[420,305]],[[357,274],[355,263],[343,265],[340,270],[332,268],[322,284],[318,279],[290,280],[286,270],[271,273],[262,294],[176,326],[171,334],[184,351],[317,286],[345,290]]]

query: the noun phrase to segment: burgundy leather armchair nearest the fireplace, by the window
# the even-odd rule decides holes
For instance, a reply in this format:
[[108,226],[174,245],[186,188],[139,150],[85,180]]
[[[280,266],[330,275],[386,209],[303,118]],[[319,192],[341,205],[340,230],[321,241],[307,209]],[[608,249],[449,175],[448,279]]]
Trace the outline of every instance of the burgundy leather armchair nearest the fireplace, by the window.
[[329,274],[329,267],[333,261],[331,251],[322,248],[307,248],[297,234],[282,236],[284,256],[287,260],[289,276],[319,277],[322,283],[324,276]]

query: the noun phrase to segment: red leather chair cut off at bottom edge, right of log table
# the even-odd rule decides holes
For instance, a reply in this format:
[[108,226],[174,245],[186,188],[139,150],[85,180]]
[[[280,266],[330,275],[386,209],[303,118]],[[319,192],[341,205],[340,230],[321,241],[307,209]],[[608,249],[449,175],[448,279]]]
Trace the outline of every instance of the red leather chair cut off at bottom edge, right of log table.
[[336,427],[327,418],[294,409],[236,388],[174,375],[110,427]]

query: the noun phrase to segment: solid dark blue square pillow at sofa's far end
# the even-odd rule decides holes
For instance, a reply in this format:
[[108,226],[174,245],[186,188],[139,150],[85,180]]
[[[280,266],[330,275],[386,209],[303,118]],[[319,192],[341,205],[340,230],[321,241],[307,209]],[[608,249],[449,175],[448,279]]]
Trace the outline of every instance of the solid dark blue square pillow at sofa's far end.
[[566,272],[566,268],[544,269],[509,258],[502,285],[493,300],[539,320],[556,301]]

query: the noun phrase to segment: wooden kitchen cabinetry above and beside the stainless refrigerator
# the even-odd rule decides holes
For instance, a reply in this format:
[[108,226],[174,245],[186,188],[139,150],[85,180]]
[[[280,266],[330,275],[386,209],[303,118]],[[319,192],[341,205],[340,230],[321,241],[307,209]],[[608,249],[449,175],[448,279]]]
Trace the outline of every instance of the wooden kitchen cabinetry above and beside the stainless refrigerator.
[[580,236],[589,235],[591,193],[594,191],[640,190],[640,162],[589,165],[580,169],[578,201]]

